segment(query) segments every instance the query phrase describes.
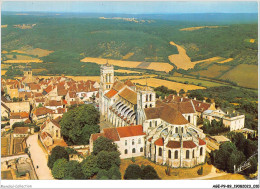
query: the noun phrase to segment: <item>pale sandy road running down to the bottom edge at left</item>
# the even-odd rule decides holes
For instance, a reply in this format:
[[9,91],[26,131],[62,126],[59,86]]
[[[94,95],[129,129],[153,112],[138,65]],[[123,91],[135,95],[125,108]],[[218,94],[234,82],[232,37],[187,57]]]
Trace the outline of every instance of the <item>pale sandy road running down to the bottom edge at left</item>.
[[[38,144],[38,134],[30,135],[26,143],[39,180],[53,180],[51,170],[47,166],[47,156]],[[38,168],[36,168],[37,166]]]

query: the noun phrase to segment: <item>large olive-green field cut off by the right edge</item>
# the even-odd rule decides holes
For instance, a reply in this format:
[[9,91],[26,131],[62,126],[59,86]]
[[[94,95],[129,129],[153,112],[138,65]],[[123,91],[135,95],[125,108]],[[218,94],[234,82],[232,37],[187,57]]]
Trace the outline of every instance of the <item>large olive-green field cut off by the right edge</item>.
[[225,73],[221,79],[229,79],[243,87],[255,88],[258,87],[258,66],[240,64],[232,70]]

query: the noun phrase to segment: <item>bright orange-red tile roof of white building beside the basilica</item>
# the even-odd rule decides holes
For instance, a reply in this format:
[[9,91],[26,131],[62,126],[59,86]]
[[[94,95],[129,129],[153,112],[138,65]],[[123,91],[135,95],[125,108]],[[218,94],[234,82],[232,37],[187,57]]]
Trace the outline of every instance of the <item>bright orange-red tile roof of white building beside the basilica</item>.
[[116,128],[120,138],[145,135],[142,125]]

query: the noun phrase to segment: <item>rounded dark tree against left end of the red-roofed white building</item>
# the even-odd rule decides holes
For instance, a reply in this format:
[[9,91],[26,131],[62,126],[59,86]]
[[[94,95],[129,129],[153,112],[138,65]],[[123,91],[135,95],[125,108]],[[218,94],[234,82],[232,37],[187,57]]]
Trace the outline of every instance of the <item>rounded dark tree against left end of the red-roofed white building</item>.
[[93,154],[97,155],[101,151],[116,152],[117,145],[111,139],[101,136],[94,141]]

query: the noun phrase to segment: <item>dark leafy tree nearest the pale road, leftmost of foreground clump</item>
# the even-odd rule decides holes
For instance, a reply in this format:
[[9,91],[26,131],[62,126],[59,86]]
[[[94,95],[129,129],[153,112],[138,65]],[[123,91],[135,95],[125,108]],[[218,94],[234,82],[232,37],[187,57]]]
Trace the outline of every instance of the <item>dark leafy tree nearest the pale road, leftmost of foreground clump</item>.
[[62,158],[69,160],[68,152],[66,151],[66,149],[64,147],[55,146],[51,151],[51,155],[49,155],[48,167],[50,169],[52,169],[55,161],[57,161],[58,159],[62,159]]

